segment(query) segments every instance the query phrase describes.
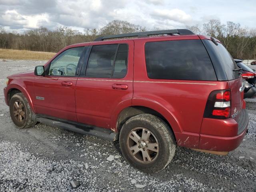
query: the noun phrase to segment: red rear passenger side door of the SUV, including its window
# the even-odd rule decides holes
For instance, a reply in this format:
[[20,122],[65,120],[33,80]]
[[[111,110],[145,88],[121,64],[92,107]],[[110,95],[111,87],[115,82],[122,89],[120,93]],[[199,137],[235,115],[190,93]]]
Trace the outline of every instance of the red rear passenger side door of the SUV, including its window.
[[110,129],[113,111],[132,105],[133,50],[133,40],[90,44],[76,83],[78,122]]

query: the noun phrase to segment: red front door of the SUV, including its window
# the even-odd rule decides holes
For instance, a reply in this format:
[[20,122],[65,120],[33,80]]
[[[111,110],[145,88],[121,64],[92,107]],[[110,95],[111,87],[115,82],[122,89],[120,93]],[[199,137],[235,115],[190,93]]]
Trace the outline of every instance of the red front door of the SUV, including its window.
[[70,121],[76,119],[75,90],[78,69],[85,47],[64,50],[46,67],[45,76],[36,76],[36,112]]

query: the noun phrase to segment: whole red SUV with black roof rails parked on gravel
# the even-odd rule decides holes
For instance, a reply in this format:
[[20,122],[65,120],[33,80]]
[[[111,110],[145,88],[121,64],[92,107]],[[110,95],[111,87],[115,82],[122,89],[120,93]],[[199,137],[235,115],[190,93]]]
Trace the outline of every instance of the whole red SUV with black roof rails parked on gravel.
[[70,45],[6,84],[18,128],[42,122],[119,139],[124,158],[144,172],[165,168],[176,146],[227,154],[248,126],[233,58],[217,39],[185,29]]

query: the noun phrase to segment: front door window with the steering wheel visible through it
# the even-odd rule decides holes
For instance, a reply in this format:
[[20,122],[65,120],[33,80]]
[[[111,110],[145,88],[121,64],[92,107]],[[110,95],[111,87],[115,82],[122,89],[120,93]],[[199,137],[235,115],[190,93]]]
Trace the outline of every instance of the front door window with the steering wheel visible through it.
[[84,47],[75,47],[59,54],[50,64],[48,75],[75,76],[76,68]]

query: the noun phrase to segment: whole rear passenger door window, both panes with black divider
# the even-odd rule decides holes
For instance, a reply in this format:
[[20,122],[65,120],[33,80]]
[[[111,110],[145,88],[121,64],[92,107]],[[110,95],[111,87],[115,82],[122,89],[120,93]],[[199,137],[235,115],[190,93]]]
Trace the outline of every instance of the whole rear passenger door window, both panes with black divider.
[[110,44],[92,46],[86,77],[124,78],[127,73],[127,44]]

